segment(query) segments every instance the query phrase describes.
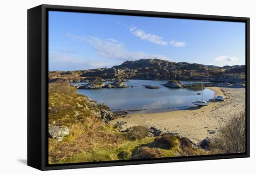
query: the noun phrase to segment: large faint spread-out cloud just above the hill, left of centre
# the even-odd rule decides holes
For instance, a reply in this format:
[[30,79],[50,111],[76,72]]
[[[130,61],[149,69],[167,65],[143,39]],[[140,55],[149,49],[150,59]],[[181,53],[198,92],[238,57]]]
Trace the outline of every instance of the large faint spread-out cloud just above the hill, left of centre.
[[148,54],[141,51],[128,51],[123,42],[115,39],[100,39],[97,37],[82,37],[77,35],[67,34],[68,37],[75,40],[85,41],[92,46],[98,55],[103,58],[115,59],[119,61],[139,60],[147,58],[159,58],[162,60],[169,60],[168,57],[158,54]]

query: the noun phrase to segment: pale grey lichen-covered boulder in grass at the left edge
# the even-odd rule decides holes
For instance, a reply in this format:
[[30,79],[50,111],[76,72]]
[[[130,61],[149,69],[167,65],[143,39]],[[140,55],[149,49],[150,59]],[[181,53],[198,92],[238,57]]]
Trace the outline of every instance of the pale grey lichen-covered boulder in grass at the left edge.
[[69,134],[67,126],[49,126],[48,135],[50,138],[56,138],[57,141],[62,141],[63,137]]

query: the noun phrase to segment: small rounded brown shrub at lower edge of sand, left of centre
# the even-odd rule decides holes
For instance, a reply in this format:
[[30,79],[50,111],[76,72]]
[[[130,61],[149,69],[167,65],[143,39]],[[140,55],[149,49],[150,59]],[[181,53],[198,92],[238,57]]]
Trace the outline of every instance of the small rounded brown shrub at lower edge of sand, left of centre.
[[143,126],[134,126],[128,131],[128,137],[131,140],[143,139],[149,135],[148,128]]

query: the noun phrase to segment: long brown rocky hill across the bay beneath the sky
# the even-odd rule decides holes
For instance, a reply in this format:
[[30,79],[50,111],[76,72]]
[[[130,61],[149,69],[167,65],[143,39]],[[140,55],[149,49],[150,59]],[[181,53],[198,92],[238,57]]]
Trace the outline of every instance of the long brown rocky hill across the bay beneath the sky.
[[111,68],[97,68],[81,71],[50,71],[49,79],[66,79],[71,82],[100,79],[143,79],[143,80],[201,80],[243,82],[245,65],[216,67],[187,62],[171,62],[159,59],[125,61]]

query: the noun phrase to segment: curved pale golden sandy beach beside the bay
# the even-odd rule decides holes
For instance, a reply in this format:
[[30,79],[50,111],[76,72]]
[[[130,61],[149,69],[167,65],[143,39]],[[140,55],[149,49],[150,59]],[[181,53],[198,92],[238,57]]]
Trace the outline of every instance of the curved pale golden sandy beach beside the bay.
[[[133,126],[155,127],[163,132],[178,133],[188,137],[194,143],[199,143],[206,137],[211,137],[210,131],[218,132],[234,114],[245,108],[245,88],[208,87],[216,95],[225,97],[225,101],[211,100],[209,106],[191,107],[163,113],[128,114],[126,117],[111,121],[127,122],[123,129]],[[210,133],[209,133],[210,132]]]

